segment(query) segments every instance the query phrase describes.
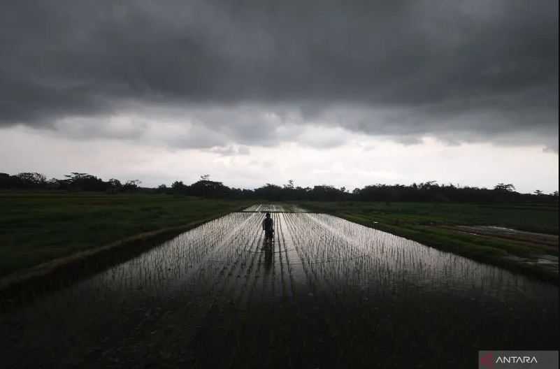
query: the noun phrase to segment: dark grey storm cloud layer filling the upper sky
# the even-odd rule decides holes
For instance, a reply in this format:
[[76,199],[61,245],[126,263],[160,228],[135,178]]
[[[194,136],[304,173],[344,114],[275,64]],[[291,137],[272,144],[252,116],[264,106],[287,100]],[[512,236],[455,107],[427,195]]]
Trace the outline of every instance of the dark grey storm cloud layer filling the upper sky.
[[137,101],[206,109],[201,124],[243,144],[274,140],[248,113],[213,119],[250,103],[403,141],[558,150],[555,0],[10,1],[0,24],[4,126]]

